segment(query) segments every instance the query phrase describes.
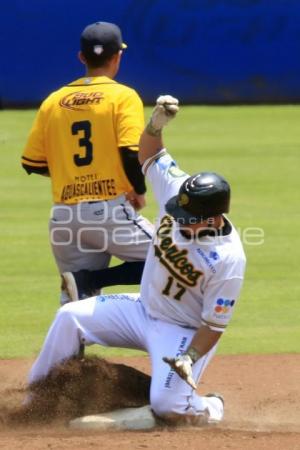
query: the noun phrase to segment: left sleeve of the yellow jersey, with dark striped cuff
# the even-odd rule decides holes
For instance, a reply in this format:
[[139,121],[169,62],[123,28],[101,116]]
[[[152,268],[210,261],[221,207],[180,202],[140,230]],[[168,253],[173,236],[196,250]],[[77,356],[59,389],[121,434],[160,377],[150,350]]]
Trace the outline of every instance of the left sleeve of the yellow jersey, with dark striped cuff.
[[33,122],[21,158],[22,166],[28,173],[31,172],[45,173],[48,171],[44,135],[45,135],[45,110],[42,105]]

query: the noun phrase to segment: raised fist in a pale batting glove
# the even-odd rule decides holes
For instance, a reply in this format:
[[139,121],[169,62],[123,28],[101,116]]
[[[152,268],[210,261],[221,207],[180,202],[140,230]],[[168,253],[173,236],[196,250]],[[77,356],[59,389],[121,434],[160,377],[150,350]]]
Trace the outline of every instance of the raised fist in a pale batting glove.
[[161,95],[156,100],[156,106],[150,119],[154,130],[160,131],[168,122],[173,119],[179,111],[177,98],[171,95]]

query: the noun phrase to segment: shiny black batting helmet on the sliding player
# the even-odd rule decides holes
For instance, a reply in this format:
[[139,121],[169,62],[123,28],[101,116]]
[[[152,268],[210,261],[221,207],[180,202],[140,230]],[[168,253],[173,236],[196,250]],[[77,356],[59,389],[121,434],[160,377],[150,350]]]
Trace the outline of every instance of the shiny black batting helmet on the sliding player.
[[180,186],[166,203],[166,211],[182,224],[197,223],[229,211],[230,186],[214,172],[200,172]]

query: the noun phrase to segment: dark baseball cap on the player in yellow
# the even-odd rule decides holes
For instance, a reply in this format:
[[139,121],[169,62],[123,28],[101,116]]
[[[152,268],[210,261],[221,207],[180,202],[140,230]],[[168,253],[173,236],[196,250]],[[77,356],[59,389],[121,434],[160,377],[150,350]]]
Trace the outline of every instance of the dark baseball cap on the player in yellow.
[[127,48],[120,28],[114,23],[96,22],[88,25],[80,38],[81,51],[85,56],[113,55]]

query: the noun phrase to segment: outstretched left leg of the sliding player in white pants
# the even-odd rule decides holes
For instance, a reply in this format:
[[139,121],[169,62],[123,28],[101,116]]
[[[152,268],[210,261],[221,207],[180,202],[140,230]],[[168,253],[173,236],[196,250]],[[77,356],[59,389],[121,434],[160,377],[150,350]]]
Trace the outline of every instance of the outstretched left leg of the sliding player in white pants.
[[100,295],[61,307],[31,369],[29,383],[77,355],[82,343],[145,349],[147,317],[137,297],[137,294]]

